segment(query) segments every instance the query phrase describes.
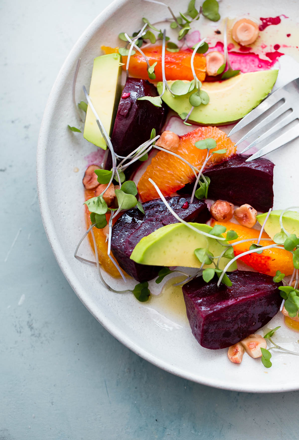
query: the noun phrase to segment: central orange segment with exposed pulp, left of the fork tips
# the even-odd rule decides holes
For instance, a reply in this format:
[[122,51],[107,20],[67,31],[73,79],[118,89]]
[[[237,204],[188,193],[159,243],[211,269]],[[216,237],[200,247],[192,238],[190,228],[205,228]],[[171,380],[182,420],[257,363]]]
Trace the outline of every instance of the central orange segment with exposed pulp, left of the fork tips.
[[[199,150],[194,145],[199,140],[213,138],[217,142],[217,147],[214,150],[227,150],[224,154],[213,154],[207,162],[207,168],[236,153],[234,143],[217,127],[199,127],[184,136],[179,136],[179,138],[178,147],[172,151],[197,169],[200,169],[207,157],[207,150]],[[210,153],[214,150],[210,150]],[[159,197],[155,188],[148,181],[149,178],[158,185],[163,195],[170,195],[184,187],[186,183],[192,183],[194,174],[189,165],[181,159],[159,151],[151,160],[151,164],[148,165],[138,183],[138,191],[143,202]]]

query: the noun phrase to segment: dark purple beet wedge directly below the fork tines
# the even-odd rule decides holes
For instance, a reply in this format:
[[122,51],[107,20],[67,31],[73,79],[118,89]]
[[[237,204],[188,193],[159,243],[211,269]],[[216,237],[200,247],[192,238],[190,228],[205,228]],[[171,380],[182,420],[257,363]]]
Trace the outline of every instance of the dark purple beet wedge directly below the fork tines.
[[[269,211],[273,207],[274,164],[262,158],[246,162],[247,158],[237,154],[203,173],[211,180],[208,198],[235,205],[248,203],[257,211]],[[188,184],[178,192],[191,194],[192,190],[193,185]]]

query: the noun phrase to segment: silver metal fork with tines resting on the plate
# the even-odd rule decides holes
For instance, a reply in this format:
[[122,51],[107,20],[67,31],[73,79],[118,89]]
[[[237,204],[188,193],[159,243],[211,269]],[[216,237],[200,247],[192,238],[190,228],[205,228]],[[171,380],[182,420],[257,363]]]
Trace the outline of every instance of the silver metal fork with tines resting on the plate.
[[[299,118],[299,78],[289,82],[281,88],[278,88],[275,92],[272,92],[269,96],[267,96],[262,103],[260,103],[255,109],[251,110],[243,119],[241,119],[238,124],[234,126],[234,128],[229,132],[228,137],[232,136],[234,133],[238,132],[241,128],[246,127],[246,125],[255,121],[256,118],[262,116],[267,110],[271,109],[272,106],[277,104],[279,101],[283,100],[283,103],[276,109],[273,110],[268,116],[266,116],[262,121],[260,121],[257,125],[255,125],[251,130],[249,130],[246,135],[244,135],[236,145],[243,142],[245,139],[249,138],[259,130],[261,130],[266,124],[273,121],[277,117],[284,114],[284,112],[288,110],[292,110],[292,113],[285,116],[281,121],[277,122],[277,124],[273,125],[266,132],[264,132],[261,136],[258,136],[250,145],[248,145],[241,152],[244,153],[247,150],[250,150],[252,147],[255,147],[258,143],[267,139],[269,136],[279,132],[286,125],[295,121]],[[277,133],[278,134],[278,133]],[[272,142],[268,143],[265,147],[261,148],[255,154],[252,154],[250,158],[246,161],[252,161],[253,159],[260,158],[265,154],[270,153],[273,150],[281,147],[282,145],[290,142],[299,136],[299,124],[295,125],[292,128],[289,128],[284,134],[278,136]]]

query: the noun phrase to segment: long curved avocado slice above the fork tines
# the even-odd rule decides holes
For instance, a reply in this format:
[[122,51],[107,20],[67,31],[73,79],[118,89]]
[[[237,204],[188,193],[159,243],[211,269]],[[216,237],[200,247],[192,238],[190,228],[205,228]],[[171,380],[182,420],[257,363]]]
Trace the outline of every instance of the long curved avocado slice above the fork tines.
[[[207,105],[195,107],[189,119],[206,125],[224,124],[237,121],[249,113],[271,92],[277,78],[278,70],[260,70],[242,73],[225,81],[204,82],[201,90],[210,97]],[[174,81],[168,81],[171,85]],[[157,85],[162,93],[162,82]],[[162,100],[178,114],[188,114],[191,110],[189,96],[173,96],[166,90]]]

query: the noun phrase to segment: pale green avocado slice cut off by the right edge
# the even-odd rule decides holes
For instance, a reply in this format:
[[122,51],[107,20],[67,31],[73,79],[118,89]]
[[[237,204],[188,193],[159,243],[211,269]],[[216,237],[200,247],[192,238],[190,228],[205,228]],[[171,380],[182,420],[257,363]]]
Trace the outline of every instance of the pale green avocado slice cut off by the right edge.
[[[279,224],[279,217],[282,213],[282,209],[278,209],[276,211],[271,211],[269,218],[264,227],[266,233],[272,238],[275,234],[281,231],[281,227]],[[267,213],[259,214],[256,216],[258,223],[262,225],[265,221]],[[282,217],[282,223],[284,225],[284,229],[288,231],[289,234],[295,234],[299,237],[299,213],[295,213],[294,211],[287,211],[284,213]]]

